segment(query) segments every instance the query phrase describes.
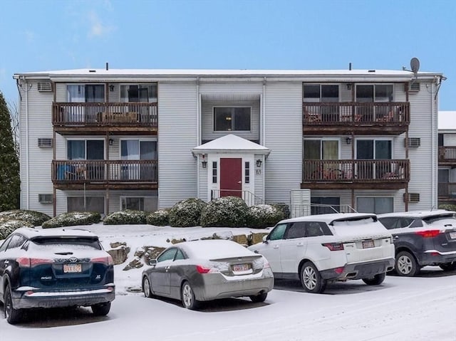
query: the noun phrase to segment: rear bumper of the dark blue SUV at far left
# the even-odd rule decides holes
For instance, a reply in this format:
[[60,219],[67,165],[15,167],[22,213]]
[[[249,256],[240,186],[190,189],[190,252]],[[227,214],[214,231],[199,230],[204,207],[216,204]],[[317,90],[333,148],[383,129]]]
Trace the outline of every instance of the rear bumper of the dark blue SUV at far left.
[[113,301],[115,285],[73,291],[34,291],[33,288],[18,288],[11,291],[11,296],[15,309],[89,306]]

